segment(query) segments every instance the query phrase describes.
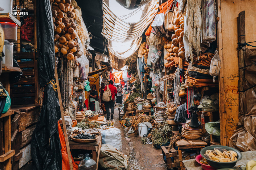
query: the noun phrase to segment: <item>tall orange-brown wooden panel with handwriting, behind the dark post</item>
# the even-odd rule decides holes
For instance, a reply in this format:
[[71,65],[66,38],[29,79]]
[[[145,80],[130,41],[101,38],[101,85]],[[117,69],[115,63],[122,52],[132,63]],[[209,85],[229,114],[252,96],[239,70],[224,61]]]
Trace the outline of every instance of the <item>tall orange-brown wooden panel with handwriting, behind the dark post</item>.
[[[219,77],[223,79],[223,81],[219,81],[221,83],[219,84],[221,91],[219,95],[220,99],[222,98],[220,100],[221,145],[229,145],[229,138],[233,135],[233,131],[238,128],[239,94],[237,85],[239,80],[239,61],[235,57],[238,54],[237,17],[241,11],[245,11],[245,20],[248,21],[245,22],[245,41],[255,41],[256,34],[253,28],[256,28],[256,23],[250,22],[256,20],[255,6],[256,2],[254,1],[248,3],[247,1],[239,0],[218,0],[218,13],[220,17],[218,25],[220,23],[222,25],[221,36],[218,37],[219,44],[221,43],[219,49],[222,62]],[[255,42],[250,43],[252,46],[255,46],[255,44]]]

